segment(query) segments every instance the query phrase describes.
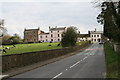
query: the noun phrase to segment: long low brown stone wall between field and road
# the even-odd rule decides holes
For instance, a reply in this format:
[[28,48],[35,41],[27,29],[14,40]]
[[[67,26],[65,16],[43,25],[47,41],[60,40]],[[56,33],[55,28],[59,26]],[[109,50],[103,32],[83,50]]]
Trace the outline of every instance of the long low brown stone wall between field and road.
[[14,68],[23,67],[33,63],[37,63],[37,62],[52,59],[55,57],[59,57],[62,55],[66,55],[70,52],[80,50],[81,48],[87,46],[88,44],[89,43],[85,43],[79,46],[67,47],[62,49],[2,55],[2,71],[5,72]]

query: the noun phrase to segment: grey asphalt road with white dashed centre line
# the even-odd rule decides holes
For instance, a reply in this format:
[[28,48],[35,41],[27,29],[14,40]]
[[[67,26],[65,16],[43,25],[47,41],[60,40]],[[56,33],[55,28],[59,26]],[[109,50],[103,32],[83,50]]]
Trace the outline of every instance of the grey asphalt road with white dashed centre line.
[[105,56],[102,44],[92,44],[76,55],[13,76],[12,78],[104,78]]

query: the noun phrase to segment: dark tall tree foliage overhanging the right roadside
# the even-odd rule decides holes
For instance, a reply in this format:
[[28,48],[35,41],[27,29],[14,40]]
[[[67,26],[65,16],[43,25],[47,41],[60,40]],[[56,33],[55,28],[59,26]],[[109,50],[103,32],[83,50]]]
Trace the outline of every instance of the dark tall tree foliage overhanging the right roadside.
[[104,26],[104,35],[116,42],[120,42],[120,0],[118,2],[103,2],[98,23]]

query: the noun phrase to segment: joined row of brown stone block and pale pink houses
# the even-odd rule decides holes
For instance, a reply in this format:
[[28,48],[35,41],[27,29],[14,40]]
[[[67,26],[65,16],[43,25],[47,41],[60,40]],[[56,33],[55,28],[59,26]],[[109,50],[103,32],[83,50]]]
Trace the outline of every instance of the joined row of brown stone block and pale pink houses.
[[49,27],[49,32],[45,33],[38,29],[25,29],[25,42],[60,42],[66,27]]

